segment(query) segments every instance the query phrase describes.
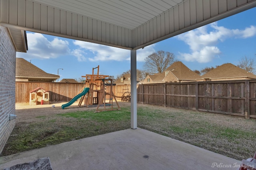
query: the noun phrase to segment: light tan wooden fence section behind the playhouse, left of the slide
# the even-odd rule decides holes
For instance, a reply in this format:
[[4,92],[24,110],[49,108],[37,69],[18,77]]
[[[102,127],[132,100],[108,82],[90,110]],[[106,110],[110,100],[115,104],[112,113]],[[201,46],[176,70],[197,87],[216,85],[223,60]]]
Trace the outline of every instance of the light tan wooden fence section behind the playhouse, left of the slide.
[[15,102],[29,103],[29,92],[38,87],[50,92],[50,102],[69,102],[83,88],[83,84],[60,82],[16,82]]

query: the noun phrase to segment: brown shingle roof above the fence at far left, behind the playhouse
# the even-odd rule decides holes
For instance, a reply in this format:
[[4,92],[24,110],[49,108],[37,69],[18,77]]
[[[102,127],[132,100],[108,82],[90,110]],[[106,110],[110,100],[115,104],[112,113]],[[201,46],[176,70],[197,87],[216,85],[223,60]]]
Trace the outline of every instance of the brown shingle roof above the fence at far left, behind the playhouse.
[[36,77],[36,78],[60,78],[55,74],[49,74],[38,68],[34,64],[29,63],[25,59],[16,58],[16,77]]

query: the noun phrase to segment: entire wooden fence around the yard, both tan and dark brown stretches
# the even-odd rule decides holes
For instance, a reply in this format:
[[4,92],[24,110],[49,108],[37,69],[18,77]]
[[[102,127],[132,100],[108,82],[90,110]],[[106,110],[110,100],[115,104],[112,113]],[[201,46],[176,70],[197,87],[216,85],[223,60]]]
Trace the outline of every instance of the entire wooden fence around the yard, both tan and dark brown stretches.
[[[29,92],[38,87],[50,92],[50,102],[68,102],[83,84],[16,82],[15,102],[28,103]],[[116,85],[113,93],[118,101],[130,101],[130,85]],[[140,84],[137,102],[256,118],[256,80]]]

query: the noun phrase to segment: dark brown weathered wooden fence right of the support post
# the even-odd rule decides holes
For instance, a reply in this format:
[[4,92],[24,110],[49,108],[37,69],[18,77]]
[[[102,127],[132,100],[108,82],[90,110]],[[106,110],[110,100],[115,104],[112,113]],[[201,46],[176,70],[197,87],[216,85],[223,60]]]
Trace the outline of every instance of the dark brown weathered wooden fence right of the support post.
[[140,84],[137,102],[256,118],[256,80]]

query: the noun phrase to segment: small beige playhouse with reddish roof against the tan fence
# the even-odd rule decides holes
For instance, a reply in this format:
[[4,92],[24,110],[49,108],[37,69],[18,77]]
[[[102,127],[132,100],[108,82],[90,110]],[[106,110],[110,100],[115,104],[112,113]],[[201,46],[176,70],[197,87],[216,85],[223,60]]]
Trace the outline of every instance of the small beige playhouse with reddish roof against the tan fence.
[[29,92],[29,105],[49,104],[49,92],[43,88],[36,88]]

